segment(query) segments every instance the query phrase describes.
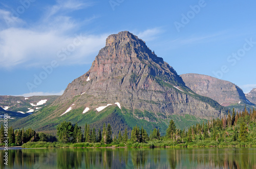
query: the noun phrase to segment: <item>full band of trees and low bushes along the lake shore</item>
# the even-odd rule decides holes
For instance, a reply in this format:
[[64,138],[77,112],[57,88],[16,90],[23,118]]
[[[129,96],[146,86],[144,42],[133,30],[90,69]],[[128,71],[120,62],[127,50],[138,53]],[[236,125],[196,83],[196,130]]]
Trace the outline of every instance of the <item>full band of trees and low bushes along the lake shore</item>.
[[[170,120],[166,135],[161,136],[159,128],[150,131],[134,126],[131,135],[119,130],[117,135],[112,132],[111,125],[105,123],[102,128],[84,126],[84,132],[77,124],[62,122],[57,126],[57,134],[49,135],[35,132],[31,128],[24,130],[8,129],[9,146],[22,148],[203,148],[203,147],[256,147],[256,110],[244,108],[242,112],[221,119],[208,120],[185,129],[177,129]],[[3,146],[4,127],[0,128],[0,141]]]

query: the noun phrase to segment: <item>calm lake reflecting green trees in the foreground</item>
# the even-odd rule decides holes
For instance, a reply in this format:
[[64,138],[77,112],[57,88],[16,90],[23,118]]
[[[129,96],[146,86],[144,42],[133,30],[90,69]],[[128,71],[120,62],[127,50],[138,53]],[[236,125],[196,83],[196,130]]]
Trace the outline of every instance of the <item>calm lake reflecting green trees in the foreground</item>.
[[1,168],[256,168],[256,148],[0,150]]

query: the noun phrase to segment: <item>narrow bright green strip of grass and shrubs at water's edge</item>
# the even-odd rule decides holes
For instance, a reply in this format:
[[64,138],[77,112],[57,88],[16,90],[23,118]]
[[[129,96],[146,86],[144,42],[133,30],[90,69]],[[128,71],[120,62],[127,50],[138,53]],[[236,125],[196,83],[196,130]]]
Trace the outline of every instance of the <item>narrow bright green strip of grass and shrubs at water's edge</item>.
[[200,143],[192,142],[189,144],[175,144],[173,142],[148,142],[148,143],[127,143],[127,144],[100,144],[100,143],[73,143],[62,144],[59,142],[28,142],[22,148],[214,148],[214,147],[256,147],[253,143]]

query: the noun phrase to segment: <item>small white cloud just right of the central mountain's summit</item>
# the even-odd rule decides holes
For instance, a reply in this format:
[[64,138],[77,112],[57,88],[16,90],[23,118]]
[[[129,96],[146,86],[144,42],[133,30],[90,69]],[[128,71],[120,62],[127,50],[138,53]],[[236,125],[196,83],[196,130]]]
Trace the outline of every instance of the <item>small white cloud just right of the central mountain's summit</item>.
[[[136,33],[136,32],[135,32]],[[154,29],[147,29],[143,32],[137,33],[138,38],[143,41],[152,41],[157,38],[157,35],[163,33],[163,30],[159,27],[155,27]]]

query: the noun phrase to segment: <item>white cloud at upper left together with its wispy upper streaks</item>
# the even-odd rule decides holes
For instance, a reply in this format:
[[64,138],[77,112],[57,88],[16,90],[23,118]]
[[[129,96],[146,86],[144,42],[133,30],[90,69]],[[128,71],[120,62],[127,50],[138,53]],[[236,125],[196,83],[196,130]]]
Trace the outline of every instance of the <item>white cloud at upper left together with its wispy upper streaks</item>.
[[[77,36],[81,43],[69,52],[67,59],[61,64],[84,64],[91,62],[98,50],[105,44],[108,35],[87,35],[79,32],[77,27],[86,25],[96,19],[89,16],[78,21],[69,12],[88,8],[93,3],[89,1],[57,1],[56,5],[48,7],[46,13],[36,23],[24,27],[25,21],[17,18],[15,24],[0,29],[0,68],[13,69],[16,67],[35,67],[49,64],[56,60],[57,53],[64,51],[74,43]],[[2,14],[2,15],[1,15]],[[12,18],[7,10],[0,9],[0,24],[4,18]],[[0,26],[1,27],[1,26]],[[77,35],[78,34],[78,35]],[[80,35],[81,34],[81,35]]]

